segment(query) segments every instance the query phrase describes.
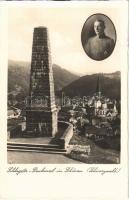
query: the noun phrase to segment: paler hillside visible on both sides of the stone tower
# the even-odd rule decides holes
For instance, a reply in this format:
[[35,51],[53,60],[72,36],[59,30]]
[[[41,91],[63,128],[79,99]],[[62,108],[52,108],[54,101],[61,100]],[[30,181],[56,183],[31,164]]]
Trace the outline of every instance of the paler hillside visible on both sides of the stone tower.
[[[53,64],[55,91],[61,90],[66,85],[79,78],[76,74]],[[8,62],[8,92],[28,93],[30,80],[30,63],[9,60]]]

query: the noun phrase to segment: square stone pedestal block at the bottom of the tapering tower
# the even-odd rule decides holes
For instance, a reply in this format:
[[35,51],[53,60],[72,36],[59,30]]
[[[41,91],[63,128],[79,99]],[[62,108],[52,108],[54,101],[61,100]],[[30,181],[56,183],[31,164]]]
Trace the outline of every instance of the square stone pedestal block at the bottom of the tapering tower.
[[57,110],[26,111],[26,134],[28,136],[54,137],[57,131]]

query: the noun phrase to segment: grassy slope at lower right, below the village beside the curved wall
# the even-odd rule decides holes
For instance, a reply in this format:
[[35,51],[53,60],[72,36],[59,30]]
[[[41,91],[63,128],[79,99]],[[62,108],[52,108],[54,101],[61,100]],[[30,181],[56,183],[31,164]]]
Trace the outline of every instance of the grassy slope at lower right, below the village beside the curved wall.
[[85,136],[79,136],[74,133],[73,138],[70,141],[71,145],[90,145],[91,152],[89,155],[86,153],[71,151],[68,154],[69,157],[80,160],[89,164],[113,164],[119,163],[119,152],[112,149],[103,149],[95,145],[91,140],[88,140]]

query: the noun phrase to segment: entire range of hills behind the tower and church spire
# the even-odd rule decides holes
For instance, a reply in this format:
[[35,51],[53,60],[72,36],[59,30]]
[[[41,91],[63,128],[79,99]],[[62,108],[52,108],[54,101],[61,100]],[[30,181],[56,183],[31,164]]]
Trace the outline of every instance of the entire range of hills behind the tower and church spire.
[[[90,96],[96,92],[98,74],[77,76],[53,64],[55,91],[63,91],[68,96]],[[28,95],[30,80],[30,63],[9,61],[8,66],[8,92],[14,96],[18,93]],[[103,95],[120,99],[120,72],[102,73],[101,92]],[[58,94],[61,94],[58,93]]]

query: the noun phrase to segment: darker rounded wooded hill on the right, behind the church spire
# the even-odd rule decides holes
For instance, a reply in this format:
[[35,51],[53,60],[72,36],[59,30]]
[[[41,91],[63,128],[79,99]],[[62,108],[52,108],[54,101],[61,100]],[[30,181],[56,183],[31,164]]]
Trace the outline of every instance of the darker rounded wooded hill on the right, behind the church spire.
[[[63,88],[68,96],[92,96],[96,92],[98,74],[86,75]],[[100,74],[102,95],[112,99],[120,99],[120,72]]]

